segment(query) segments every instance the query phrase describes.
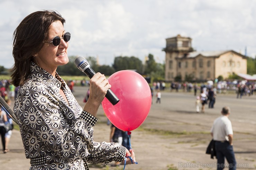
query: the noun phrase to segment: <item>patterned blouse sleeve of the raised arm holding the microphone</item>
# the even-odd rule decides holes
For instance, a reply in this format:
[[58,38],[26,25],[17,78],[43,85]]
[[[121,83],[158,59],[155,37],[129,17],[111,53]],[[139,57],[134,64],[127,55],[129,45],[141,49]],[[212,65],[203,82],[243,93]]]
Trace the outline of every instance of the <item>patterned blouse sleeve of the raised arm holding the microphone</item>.
[[45,90],[21,90],[14,111],[27,158],[46,155],[46,159],[58,157],[72,162],[87,157],[88,149],[93,150],[97,118],[86,111],[74,118],[71,109],[60,107]]

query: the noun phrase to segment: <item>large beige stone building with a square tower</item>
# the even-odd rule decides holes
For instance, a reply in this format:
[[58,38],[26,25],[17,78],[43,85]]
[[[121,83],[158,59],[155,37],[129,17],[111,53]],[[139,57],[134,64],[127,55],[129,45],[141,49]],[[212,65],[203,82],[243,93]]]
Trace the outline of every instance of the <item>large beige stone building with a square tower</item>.
[[165,80],[174,81],[181,76],[182,80],[214,80],[219,76],[227,78],[230,74],[247,73],[247,59],[233,50],[194,51],[190,37],[166,39]]

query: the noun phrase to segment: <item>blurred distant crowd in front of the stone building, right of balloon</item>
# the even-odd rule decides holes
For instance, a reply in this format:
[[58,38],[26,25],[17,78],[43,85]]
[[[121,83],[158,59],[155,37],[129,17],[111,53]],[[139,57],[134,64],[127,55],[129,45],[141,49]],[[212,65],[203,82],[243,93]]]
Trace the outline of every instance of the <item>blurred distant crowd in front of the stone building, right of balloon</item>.
[[[235,87],[235,88],[234,88]],[[154,91],[156,91],[156,103],[161,103],[161,91],[165,90],[165,82],[158,81],[153,82],[153,86],[150,88],[152,93],[152,98],[154,96]],[[170,91],[179,92],[194,92],[194,96],[196,96],[196,112],[205,112],[205,106],[208,105],[209,109],[214,108],[214,104],[216,103],[216,96],[218,93],[227,93],[227,89],[235,90],[237,98],[242,98],[242,96],[252,96],[256,92],[256,83],[242,83],[238,82],[236,86],[229,87],[227,84],[222,84],[220,82],[216,84],[209,83],[191,83],[191,82],[171,82],[170,83]],[[153,103],[153,102],[152,102]]]

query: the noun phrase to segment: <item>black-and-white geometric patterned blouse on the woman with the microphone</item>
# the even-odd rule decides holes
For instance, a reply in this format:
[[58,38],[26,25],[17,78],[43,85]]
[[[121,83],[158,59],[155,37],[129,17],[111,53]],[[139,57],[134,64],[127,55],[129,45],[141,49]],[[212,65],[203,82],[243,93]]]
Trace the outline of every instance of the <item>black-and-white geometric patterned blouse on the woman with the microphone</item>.
[[[81,108],[57,73],[55,78],[34,62],[30,73],[19,88],[13,109],[30,170],[89,170],[87,162],[124,160],[125,147],[93,141],[97,118]],[[68,103],[60,95],[60,88]]]

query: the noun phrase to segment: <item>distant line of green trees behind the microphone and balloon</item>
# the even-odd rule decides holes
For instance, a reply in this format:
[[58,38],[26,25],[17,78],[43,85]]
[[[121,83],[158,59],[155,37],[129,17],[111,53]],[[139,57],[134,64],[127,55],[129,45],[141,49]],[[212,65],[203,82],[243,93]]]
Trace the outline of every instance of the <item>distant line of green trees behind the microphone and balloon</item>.
[[[62,76],[84,76],[84,73],[75,66],[74,61],[77,56],[70,56],[68,58],[69,62],[64,66],[58,66],[57,72]],[[134,56],[118,56],[115,57],[112,66],[99,65],[95,57],[87,57],[86,59],[95,72],[100,72],[106,76],[110,76],[120,70],[135,70],[142,75],[153,76],[156,80],[164,80],[165,65],[156,63],[152,54],[148,55],[145,63]],[[8,69],[0,66],[0,74],[8,74]]]

